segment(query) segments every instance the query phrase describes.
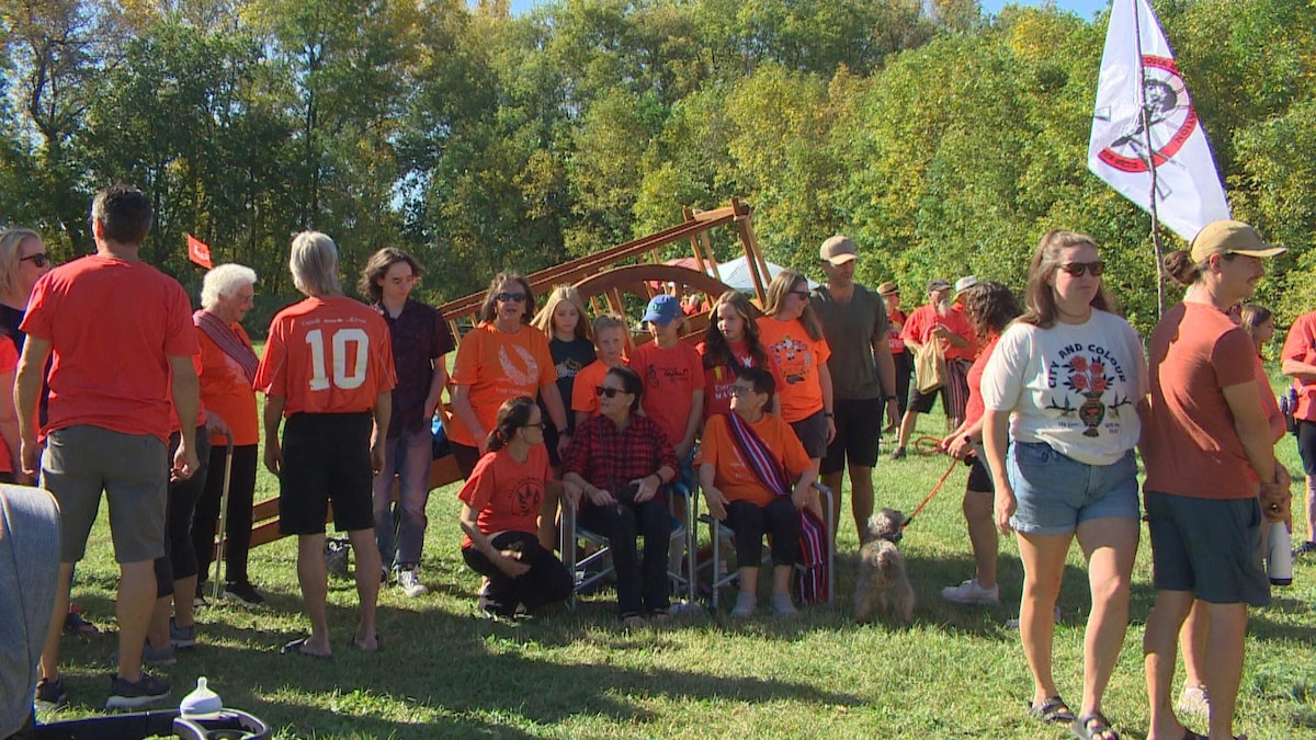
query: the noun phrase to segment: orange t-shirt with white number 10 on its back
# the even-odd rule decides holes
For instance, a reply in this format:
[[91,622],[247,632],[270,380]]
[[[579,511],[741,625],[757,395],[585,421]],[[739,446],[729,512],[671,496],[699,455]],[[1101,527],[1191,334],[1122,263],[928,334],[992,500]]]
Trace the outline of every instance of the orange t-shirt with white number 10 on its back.
[[379,312],[350,298],[308,298],[274,316],[253,386],[283,415],[372,411],[391,391],[393,350]]

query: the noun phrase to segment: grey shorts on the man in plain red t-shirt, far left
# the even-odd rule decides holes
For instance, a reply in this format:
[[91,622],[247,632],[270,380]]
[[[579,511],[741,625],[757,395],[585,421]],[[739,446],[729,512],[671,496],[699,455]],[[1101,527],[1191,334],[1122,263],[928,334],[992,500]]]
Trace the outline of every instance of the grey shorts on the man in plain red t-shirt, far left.
[[164,554],[168,449],[150,435],[100,427],[55,429],[41,456],[41,482],[59,502],[61,562],[78,562],[100,510],[109,502],[114,560],[142,562]]

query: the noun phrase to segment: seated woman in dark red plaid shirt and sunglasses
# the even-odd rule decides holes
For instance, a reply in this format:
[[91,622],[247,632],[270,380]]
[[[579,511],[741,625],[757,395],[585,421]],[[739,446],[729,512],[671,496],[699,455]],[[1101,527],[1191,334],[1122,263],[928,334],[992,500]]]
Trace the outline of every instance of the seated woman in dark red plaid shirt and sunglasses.
[[[671,515],[663,486],[676,478],[676,453],[658,424],[637,416],[644,382],[629,367],[609,367],[596,388],[600,415],[576,427],[562,460],[566,496],[580,504],[580,524],[612,546],[617,607],[628,627],[667,620],[667,546]],[[645,539],[644,573],[636,536]]]

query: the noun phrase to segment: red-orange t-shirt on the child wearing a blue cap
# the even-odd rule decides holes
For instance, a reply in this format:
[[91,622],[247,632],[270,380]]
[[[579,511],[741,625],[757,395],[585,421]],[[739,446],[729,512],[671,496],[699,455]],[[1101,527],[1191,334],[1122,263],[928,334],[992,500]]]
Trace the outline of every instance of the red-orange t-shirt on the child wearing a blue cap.
[[630,357],[630,367],[645,382],[640,407],[653,419],[672,446],[686,438],[690,413],[695,408],[695,391],[704,390],[704,361],[699,350],[686,342],[663,349],[658,342],[640,345]]

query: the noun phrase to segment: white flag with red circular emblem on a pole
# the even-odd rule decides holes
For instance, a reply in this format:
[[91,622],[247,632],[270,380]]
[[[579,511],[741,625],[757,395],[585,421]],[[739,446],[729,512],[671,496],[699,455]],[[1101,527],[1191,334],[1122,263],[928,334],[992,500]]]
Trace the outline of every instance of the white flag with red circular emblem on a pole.
[[[1144,100],[1146,128],[1141,116]],[[1207,132],[1192,109],[1155,13],[1148,0],[1115,0],[1101,54],[1087,166],[1120,195],[1150,212],[1149,162],[1155,167],[1157,215],[1184,241],[1191,242],[1202,226],[1229,217]]]

